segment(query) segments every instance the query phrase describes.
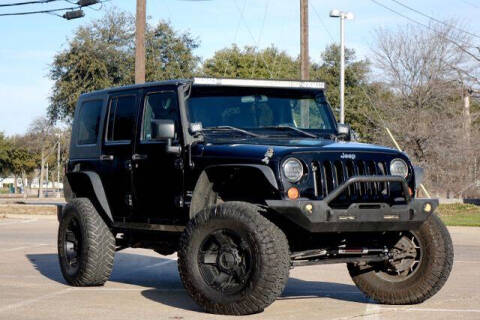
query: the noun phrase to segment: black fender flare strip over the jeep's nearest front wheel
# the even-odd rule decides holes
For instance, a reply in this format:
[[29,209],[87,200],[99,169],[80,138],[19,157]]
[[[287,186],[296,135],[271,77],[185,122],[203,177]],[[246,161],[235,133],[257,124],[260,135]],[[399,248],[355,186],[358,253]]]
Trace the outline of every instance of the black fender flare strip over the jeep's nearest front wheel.
[[218,168],[253,168],[265,177],[265,180],[275,189],[278,190],[277,179],[272,169],[265,165],[260,164],[219,164],[206,167],[200,174],[195,188],[193,190],[192,201],[190,204],[189,217],[193,218],[205,205],[208,205],[212,201],[212,197],[215,195],[213,192],[213,182],[210,181],[209,171]]

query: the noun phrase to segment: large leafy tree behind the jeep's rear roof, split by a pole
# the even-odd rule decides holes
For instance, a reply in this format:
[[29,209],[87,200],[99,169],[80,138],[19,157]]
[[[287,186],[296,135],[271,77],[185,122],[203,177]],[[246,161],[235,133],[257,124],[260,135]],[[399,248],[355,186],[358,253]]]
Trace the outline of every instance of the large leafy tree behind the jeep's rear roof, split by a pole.
[[[76,30],[50,67],[51,121],[70,121],[82,93],[134,82],[134,32],[134,17],[118,9]],[[197,47],[190,34],[179,34],[168,23],[147,26],[147,81],[190,77],[199,61],[193,54]]]

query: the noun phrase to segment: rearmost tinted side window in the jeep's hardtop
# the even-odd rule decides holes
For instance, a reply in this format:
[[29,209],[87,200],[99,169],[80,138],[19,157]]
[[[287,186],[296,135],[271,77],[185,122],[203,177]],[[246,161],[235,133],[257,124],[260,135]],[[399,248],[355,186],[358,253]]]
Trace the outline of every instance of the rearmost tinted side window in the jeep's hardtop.
[[93,100],[86,101],[80,106],[77,138],[78,145],[97,143],[102,103],[102,100]]

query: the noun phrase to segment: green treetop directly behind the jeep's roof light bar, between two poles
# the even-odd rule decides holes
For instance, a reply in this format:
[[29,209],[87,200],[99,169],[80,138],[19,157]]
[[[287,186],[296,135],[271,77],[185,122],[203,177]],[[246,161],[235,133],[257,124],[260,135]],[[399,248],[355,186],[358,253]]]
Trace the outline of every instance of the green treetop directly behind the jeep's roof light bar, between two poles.
[[202,66],[201,74],[219,78],[297,79],[299,63],[271,46],[263,50],[232,45],[215,52]]

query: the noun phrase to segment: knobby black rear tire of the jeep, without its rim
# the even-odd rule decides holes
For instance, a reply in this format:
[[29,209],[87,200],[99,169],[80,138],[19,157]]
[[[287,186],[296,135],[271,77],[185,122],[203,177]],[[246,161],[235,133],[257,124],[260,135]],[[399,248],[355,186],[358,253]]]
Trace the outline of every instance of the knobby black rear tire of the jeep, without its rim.
[[[65,249],[71,223],[79,238],[75,268],[70,266]],[[101,286],[110,277],[114,256],[115,238],[90,200],[71,200],[64,208],[58,228],[58,257],[65,280],[76,287]]]

